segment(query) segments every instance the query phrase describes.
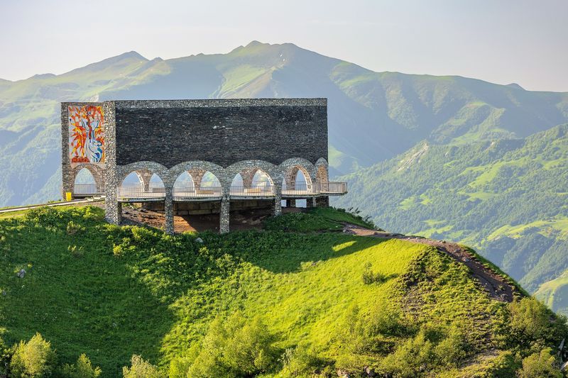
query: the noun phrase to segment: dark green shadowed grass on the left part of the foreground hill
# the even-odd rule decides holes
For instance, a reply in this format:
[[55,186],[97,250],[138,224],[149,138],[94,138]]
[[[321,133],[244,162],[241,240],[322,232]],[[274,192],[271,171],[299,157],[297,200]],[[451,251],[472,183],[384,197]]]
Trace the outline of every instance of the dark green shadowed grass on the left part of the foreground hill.
[[[158,360],[174,322],[167,304],[113,255],[92,222],[74,218],[80,227],[70,235],[66,221],[0,221],[2,338],[13,344],[39,332],[61,364],[86,353],[104,377],[119,377],[133,354]],[[23,279],[18,269],[26,269]]]

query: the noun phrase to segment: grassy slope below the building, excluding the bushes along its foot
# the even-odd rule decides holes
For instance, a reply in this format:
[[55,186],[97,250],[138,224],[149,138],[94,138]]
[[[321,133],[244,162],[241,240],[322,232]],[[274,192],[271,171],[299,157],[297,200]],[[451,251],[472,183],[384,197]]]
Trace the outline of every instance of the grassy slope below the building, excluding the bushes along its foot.
[[[107,377],[133,353],[167,366],[215,317],[237,309],[261,316],[279,347],[302,341],[337,367],[384,357],[344,348],[354,306],[362,316],[402,308],[413,326],[459,319],[473,354],[503,346],[504,304],[488,299],[463,265],[424,245],[279,230],[203,233],[200,244],[190,234],[109,226],[97,208],[36,213],[0,220],[1,336],[13,343],[38,331],[62,362],[86,352]],[[334,211],[310,216],[322,230],[361,221]],[[303,221],[289,228],[306,230]],[[386,280],[364,284],[366,264]],[[19,269],[25,278],[16,277]]]

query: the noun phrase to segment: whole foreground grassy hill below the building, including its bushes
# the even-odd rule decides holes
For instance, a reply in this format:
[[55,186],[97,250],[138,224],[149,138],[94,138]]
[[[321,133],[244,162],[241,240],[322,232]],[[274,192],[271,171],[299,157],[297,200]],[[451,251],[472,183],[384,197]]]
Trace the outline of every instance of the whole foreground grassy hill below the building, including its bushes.
[[102,218],[87,206],[0,219],[6,345],[39,332],[58,366],[86,353],[103,377],[131,355],[169,377],[513,377],[567,334],[533,299],[491,299],[435,248],[338,233],[362,222],[348,213],[226,235]]

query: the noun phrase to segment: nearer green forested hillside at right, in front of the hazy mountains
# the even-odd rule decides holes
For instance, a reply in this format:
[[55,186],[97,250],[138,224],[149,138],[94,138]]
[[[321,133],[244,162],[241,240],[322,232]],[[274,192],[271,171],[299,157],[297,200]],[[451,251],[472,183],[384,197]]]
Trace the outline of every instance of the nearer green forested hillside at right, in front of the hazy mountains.
[[525,139],[426,141],[346,179],[339,205],[387,229],[474,245],[529,291],[568,267],[568,125]]

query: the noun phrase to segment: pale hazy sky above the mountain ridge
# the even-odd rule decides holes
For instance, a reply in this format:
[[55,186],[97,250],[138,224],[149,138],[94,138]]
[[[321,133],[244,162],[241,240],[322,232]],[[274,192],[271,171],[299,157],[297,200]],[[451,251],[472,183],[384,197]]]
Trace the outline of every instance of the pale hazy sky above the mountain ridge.
[[0,0],[0,77],[296,45],[374,71],[568,91],[568,0]]

